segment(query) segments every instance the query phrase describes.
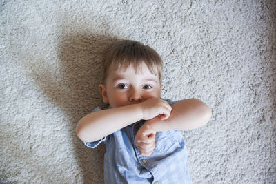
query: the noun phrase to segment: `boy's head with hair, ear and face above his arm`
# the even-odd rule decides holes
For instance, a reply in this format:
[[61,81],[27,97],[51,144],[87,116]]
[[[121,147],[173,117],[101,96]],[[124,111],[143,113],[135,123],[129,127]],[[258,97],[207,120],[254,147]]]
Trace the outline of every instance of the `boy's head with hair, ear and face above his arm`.
[[103,102],[112,108],[139,103],[161,94],[163,61],[138,41],[118,41],[103,52]]

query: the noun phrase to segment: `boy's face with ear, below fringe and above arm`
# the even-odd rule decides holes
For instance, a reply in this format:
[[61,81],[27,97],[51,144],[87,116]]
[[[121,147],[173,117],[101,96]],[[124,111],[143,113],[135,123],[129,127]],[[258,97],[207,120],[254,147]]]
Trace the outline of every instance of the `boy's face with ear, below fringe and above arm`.
[[109,103],[111,108],[141,103],[161,94],[159,76],[151,74],[148,66],[143,63],[135,73],[130,65],[126,70],[110,68],[106,85],[99,85],[103,103]]

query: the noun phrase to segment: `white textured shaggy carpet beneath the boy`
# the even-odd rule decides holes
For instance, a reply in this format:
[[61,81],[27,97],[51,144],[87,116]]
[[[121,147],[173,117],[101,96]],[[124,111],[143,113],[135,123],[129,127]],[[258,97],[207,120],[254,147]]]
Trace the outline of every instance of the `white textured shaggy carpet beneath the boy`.
[[162,97],[213,109],[184,132],[194,183],[276,183],[276,1],[0,2],[0,183],[103,183],[75,126],[115,39],[161,54]]

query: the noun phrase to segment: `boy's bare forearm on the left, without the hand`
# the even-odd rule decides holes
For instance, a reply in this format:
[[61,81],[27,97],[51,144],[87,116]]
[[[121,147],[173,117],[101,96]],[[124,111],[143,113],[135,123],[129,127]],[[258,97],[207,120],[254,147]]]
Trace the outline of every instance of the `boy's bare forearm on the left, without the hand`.
[[82,141],[97,141],[140,119],[138,105],[100,110],[84,116],[77,124],[76,132]]

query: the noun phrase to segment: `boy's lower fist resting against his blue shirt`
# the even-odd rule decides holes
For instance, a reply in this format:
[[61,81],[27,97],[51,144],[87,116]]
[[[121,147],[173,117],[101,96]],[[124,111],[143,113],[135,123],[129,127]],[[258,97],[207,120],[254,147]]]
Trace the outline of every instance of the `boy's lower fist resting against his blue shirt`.
[[135,145],[141,156],[150,156],[152,154],[155,149],[155,134],[155,130],[146,123],[139,128],[135,136]]

